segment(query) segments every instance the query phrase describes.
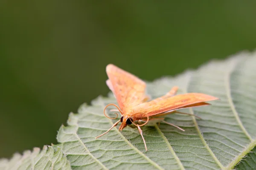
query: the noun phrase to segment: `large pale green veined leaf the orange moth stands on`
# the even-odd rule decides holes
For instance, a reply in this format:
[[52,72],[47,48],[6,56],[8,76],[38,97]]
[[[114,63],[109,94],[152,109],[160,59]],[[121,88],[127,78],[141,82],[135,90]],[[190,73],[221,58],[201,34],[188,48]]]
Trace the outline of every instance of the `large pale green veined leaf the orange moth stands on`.
[[[185,129],[160,124],[144,126],[143,140],[137,129],[119,132],[102,111],[115,103],[113,94],[99,96],[92,105],[70,113],[68,126],[61,126],[58,142],[72,169],[219,170],[233,169],[256,145],[256,53],[240,53],[225,61],[212,61],[196,71],[148,82],[152,98],[166,94],[173,86],[179,93],[200,92],[219,97],[212,105],[183,109],[200,116],[170,114],[166,121]],[[171,65],[170,65],[171,67]],[[108,110],[109,111],[109,110]],[[112,114],[110,115],[112,116]],[[246,163],[255,166],[255,150]],[[241,161],[243,162],[243,161]],[[237,169],[245,166],[240,163]],[[250,166],[250,165],[248,165]]]

